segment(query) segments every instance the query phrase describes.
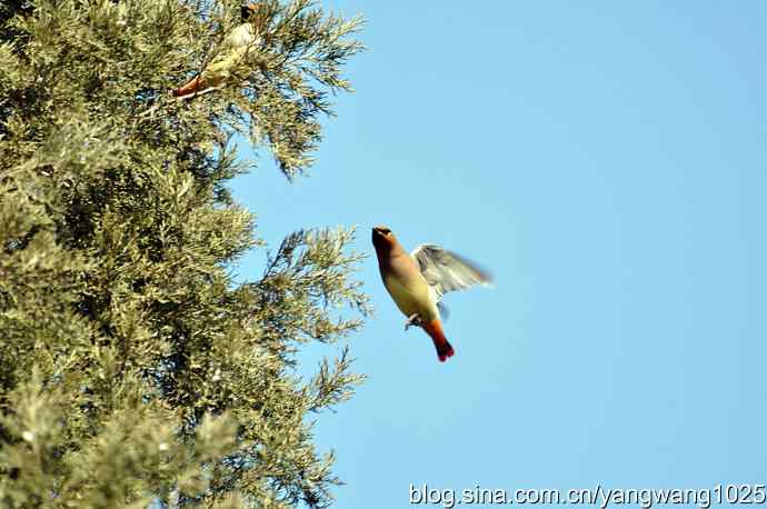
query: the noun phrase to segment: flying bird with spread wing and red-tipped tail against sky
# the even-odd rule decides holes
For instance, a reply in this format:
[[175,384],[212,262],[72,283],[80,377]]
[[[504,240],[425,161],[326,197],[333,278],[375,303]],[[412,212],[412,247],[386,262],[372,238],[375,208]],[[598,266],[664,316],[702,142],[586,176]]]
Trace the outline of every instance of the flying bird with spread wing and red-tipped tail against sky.
[[421,327],[437,348],[440,362],[452,357],[455,350],[445,337],[440,310],[442,295],[474,285],[490,286],[490,275],[456,253],[425,243],[408,255],[390,229],[373,227],[378,269],[384,286],[400,311],[408,317],[405,323]]

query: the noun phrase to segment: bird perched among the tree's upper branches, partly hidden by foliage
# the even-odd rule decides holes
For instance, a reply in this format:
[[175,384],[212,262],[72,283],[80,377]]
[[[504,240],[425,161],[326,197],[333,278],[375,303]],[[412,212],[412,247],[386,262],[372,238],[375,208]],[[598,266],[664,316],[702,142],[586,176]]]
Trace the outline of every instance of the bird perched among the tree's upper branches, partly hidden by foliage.
[[260,32],[267,21],[267,11],[261,3],[249,3],[242,7],[242,24],[223,39],[219,53],[206,66],[202,72],[178,89],[173,97],[186,97],[208,88],[223,84],[231,71],[243,63],[260,46]]

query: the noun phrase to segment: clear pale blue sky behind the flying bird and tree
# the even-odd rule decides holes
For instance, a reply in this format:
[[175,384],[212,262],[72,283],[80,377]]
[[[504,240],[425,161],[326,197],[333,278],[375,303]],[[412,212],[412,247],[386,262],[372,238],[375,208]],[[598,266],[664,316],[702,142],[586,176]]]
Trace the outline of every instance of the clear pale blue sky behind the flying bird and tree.
[[[232,187],[272,248],[356,224],[370,253],[376,317],[350,340],[370,379],[316,428],[336,507],[766,482],[767,2],[323,4],[367,19],[357,92],[309,178],[261,154]],[[402,330],[377,223],[495,273],[446,297],[448,362]]]

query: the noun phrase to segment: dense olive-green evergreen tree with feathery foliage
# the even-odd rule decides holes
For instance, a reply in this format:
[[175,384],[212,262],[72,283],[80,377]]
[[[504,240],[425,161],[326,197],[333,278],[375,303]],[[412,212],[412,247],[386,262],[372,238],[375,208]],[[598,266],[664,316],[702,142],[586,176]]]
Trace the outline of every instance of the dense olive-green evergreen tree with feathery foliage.
[[265,246],[226,186],[233,136],[311,164],[360,22],[260,3],[257,50],[183,99],[237,0],[0,7],[0,507],[331,501],[310,417],[362,377],[343,349],[302,379],[296,352],[369,312],[353,231],[290,233],[238,285]]

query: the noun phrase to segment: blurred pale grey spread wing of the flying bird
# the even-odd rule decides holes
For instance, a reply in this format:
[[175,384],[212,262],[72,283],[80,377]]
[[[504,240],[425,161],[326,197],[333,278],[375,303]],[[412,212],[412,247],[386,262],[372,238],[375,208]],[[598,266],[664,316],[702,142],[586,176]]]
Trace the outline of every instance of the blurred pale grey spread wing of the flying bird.
[[491,276],[455,252],[424,243],[418,246],[410,256],[418,263],[426,282],[436,292],[437,300],[445,293],[462,290],[474,285],[491,286]]

